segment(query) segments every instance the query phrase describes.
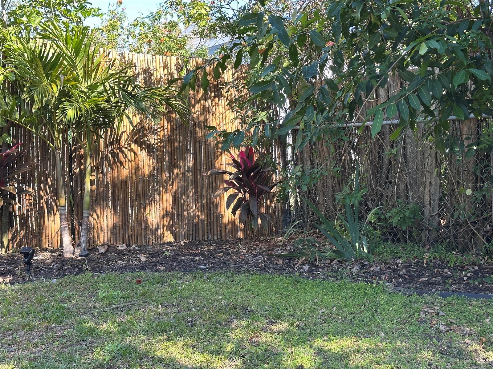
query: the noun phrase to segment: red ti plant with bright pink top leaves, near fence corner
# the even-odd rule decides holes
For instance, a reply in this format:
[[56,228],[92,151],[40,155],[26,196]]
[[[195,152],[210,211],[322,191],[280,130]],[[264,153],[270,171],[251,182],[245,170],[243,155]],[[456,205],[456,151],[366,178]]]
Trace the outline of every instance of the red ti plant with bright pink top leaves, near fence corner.
[[229,175],[224,180],[226,187],[219,188],[214,198],[234,189],[235,192],[230,194],[226,200],[226,209],[231,205],[231,214],[236,215],[240,211],[240,221],[244,224],[245,230],[251,224],[253,229],[258,229],[258,220],[262,227],[267,230],[269,223],[272,223],[270,215],[261,211],[265,195],[271,193],[277,182],[272,182],[271,168],[263,163],[264,155],[258,155],[255,159],[253,148],[247,146],[240,152],[240,157],[235,158],[231,154],[231,167],[234,172],[224,169],[212,169],[206,173],[206,176]]

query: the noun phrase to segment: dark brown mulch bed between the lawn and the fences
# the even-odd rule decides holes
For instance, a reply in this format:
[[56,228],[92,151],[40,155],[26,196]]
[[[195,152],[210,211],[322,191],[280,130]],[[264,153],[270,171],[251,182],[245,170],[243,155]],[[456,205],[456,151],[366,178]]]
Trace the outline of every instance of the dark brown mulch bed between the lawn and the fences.
[[[279,238],[256,240],[247,249],[242,240],[190,241],[153,246],[109,246],[105,253],[90,249],[87,258],[92,273],[164,272],[164,271],[235,271],[243,273],[300,274],[308,278],[343,279],[374,282],[383,281],[391,287],[426,291],[456,291],[493,293],[493,285],[476,281],[493,275],[493,265],[483,261],[460,267],[449,267],[433,260],[391,260],[379,262],[334,261],[307,263],[305,260],[283,258],[289,253],[280,247]],[[56,279],[87,271],[86,261],[65,259],[59,250],[38,251],[33,262],[36,279]],[[28,281],[19,253],[0,256],[0,283]],[[473,280],[474,283],[469,281]]]

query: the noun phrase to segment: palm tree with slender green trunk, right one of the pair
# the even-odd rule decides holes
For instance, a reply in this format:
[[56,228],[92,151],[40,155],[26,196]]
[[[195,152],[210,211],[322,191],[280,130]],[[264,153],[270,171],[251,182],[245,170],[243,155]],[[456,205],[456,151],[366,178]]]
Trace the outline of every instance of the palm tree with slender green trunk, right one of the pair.
[[129,113],[137,112],[157,121],[164,106],[182,119],[188,114],[185,102],[169,87],[143,87],[133,73],[132,65],[119,64],[108,58],[95,34],[87,27],[62,28],[56,23],[43,27],[41,38],[49,42],[63,57],[64,70],[70,74],[71,85],[61,106],[65,122],[75,135],[83,137],[85,183],[81,238],[88,240],[91,157],[96,140],[104,130],[118,131]]

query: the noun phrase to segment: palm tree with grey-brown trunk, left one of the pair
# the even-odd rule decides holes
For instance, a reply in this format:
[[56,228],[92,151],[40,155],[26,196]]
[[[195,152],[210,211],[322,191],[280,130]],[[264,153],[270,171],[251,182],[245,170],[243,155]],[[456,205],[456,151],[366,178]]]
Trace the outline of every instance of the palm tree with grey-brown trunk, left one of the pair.
[[62,138],[67,123],[60,117],[66,86],[63,61],[51,45],[39,42],[29,32],[12,35],[2,31],[2,56],[4,63],[14,74],[20,98],[31,104],[31,114],[17,123],[38,134],[55,153],[55,172],[59,204],[61,243],[64,255],[73,253],[69,233],[69,219],[62,175]]

